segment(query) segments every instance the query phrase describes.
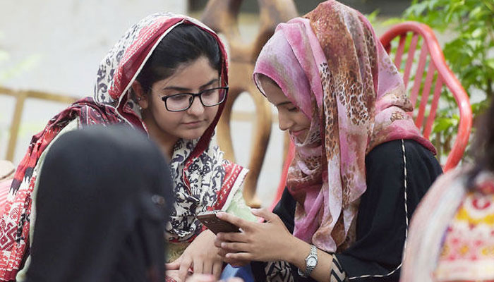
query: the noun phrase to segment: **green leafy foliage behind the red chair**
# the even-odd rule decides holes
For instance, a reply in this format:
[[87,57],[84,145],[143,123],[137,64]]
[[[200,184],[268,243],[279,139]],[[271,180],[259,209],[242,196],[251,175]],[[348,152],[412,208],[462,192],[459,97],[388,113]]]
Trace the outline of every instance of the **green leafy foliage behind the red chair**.
[[[426,23],[436,32],[450,35],[442,51],[466,92],[474,96],[472,101],[477,101],[472,103],[475,118],[494,92],[494,0],[413,0],[402,19],[391,19],[387,24],[401,20]],[[442,97],[446,106],[435,118],[433,138],[438,139],[436,146],[447,152],[447,142],[457,134],[459,116],[452,94],[443,93]]]

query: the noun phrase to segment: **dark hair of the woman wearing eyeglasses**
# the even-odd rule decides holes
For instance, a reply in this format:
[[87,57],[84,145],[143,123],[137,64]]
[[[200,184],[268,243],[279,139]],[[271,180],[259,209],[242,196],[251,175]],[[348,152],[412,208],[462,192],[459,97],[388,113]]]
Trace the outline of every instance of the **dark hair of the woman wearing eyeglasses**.
[[159,42],[136,80],[147,92],[155,82],[171,76],[179,65],[200,56],[205,56],[220,73],[222,54],[215,37],[197,25],[177,25]]

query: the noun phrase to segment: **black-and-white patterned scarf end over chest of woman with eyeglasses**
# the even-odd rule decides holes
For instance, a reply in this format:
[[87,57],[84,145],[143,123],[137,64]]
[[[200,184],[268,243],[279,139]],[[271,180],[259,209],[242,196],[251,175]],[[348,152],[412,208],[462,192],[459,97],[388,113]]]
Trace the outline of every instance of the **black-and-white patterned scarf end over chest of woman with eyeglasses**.
[[166,236],[174,243],[190,242],[203,231],[203,224],[196,218],[200,212],[211,209],[226,211],[247,172],[245,168],[232,166],[223,159],[223,152],[213,142],[185,169],[183,159],[194,146],[194,141],[179,140],[171,159],[176,204],[166,226]]

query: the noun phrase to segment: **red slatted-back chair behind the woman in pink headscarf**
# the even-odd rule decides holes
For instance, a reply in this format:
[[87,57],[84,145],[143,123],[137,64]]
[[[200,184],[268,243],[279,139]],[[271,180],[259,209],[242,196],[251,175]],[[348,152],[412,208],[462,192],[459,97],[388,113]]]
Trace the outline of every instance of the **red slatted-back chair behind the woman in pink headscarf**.
[[[414,109],[412,116],[414,116],[415,124],[422,130],[421,132],[424,137],[429,138],[430,133],[432,132],[442,87],[447,87],[447,90],[453,94],[459,109],[458,134],[443,168],[444,171],[454,168],[462,159],[466,145],[469,142],[472,123],[471,106],[468,95],[446,64],[442,49],[440,48],[438,40],[435,38],[433,30],[423,23],[399,23],[385,32],[385,34],[380,37],[380,41],[388,53],[392,51],[392,44],[397,42],[396,51],[394,53],[394,64],[399,71],[402,71],[404,74],[403,80],[405,86],[408,86],[410,82],[410,74],[412,71],[415,73],[414,78],[421,78],[414,79],[413,86],[411,87],[410,99],[414,105],[417,103],[417,100],[419,100],[420,105],[418,106],[418,111],[417,109]],[[416,62],[415,51],[419,41],[422,46],[418,56],[418,62]],[[409,42],[409,46],[406,48],[407,42]],[[406,63],[402,64],[405,49],[407,49],[405,55]],[[426,67],[427,72],[425,73],[426,78],[424,80],[423,76]],[[434,82],[433,97],[430,99],[430,90],[432,89]],[[421,92],[420,96],[418,95],[419,92]],[[427,106],[428,111],[426,109]],[[289,164],[294,157],[294,145],[291,143],[288,152],[272,207],[274,207],[281,198],[286,185]]]

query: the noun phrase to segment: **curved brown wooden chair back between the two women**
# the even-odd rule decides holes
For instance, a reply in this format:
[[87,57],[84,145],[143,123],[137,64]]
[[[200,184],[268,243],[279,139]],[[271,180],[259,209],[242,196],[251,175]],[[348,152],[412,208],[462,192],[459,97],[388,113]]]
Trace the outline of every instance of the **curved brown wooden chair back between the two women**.
[[243,197],[249,206],[260,207],[256,188],[270,140],[272,111],[270,104],[258,93],[252,81],[252,73],[255,60],[267,39],[275,32],[276,25],[295,18],[298,13],[293,0],[258,0],[260,27],[253,41],[246,44],[240,36],[238,23],[241,3],[239,0],[210,0],[201,20],[212,30],[224,35],[229,47],[229,97],[217,126],[219,147],[226,159],[235,160],[230,130],[235,100],[242,92],[247,92],[255,104],[255,116],[251,120],[255,127],[248,164],[250,171],[243,185]]

